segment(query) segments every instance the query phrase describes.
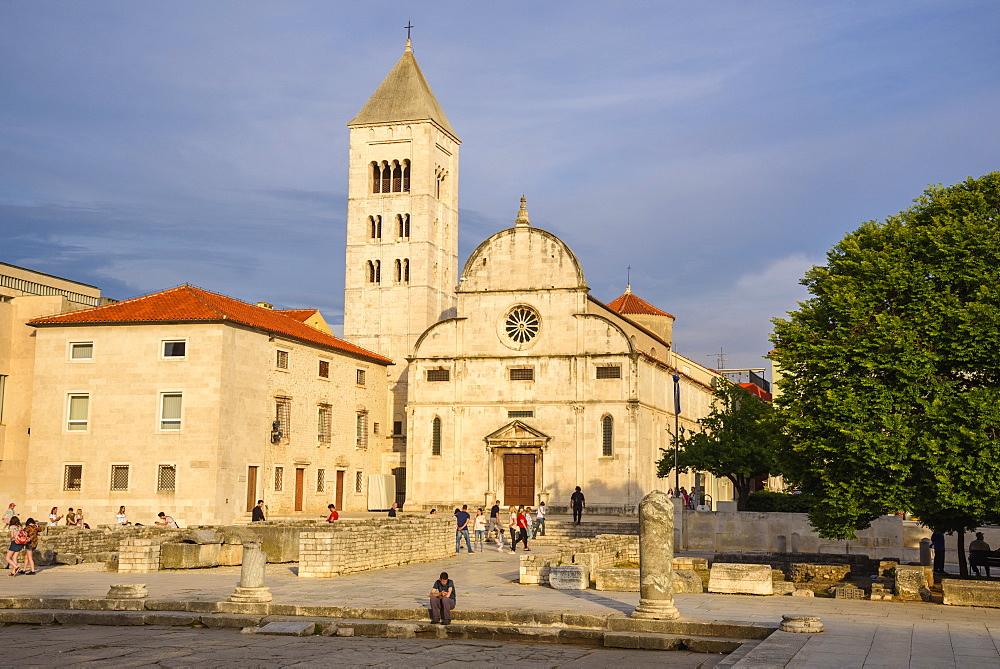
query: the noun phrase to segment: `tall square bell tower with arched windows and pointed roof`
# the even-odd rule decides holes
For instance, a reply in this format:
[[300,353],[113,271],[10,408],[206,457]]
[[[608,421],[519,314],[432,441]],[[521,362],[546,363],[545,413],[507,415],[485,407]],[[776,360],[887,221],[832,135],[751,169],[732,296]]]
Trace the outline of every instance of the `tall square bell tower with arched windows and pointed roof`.
[[406,434],[406,356],[424,330],[455,312],[458,147],[413,47],[347,124],[344,338],[392,358],[387,416],[396,450]]

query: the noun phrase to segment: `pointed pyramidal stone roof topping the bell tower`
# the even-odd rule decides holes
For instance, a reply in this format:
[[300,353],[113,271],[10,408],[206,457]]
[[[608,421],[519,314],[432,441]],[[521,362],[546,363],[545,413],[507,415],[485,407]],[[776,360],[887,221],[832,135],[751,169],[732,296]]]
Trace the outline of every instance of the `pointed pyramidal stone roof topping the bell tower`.
[[420,71],[417,59],[413,57],[410,40],[406,40],[406,50],[399,62],[347,125],[403,121],[434,121],[458,139],[424,73]]

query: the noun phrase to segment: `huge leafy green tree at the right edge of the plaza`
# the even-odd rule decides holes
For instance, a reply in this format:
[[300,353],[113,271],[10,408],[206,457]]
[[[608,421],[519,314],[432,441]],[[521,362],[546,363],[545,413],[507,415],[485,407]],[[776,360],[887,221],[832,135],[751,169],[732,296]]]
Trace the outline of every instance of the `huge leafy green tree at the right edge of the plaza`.
[[1000,503],[1000,172],[915,202],[847,235],[774,321],[782,464],[825,537],[904,510],[960,531]]

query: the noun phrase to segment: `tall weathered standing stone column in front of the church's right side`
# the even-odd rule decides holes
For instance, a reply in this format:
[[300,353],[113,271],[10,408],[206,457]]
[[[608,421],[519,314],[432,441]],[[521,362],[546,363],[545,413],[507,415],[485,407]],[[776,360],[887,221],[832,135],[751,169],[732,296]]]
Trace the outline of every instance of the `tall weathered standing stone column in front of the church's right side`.
[[639,503],[639,606],[633,618],[673,620],[674,505],[654,490]]

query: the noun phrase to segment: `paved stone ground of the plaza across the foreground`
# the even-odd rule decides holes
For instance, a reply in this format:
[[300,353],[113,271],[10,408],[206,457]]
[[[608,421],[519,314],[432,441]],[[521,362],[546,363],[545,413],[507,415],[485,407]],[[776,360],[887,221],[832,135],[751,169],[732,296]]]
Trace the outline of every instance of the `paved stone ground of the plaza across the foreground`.
[[[551,549],[536,546],[532,554],[546,550]],[[500,554],[495,549],[487,549],[485,552],[472,555],[467,555],[463,551],[460,555],[431,563],[330,579],[298,578],[295,575],[295,565],[268,565],[267,585],[274,594],[274,601],[280,603],[412,609],[426,606],[426,596],[431,583],[441,571],[447,571],[458,588],[459,610],[628,614],[638,603],[638,593],[567,591],[553,590],[544,586],[520,585],[517,583],[519,555],[521,553]],[[222,601],[232,594],[240,572],[238,567],[220,567],[153,574],[117,574],[97,571],[99,568],[98,565],[90,564],[63,566],[45,569],[37,576],[5,577],[2,595],[103,597],[112,584],[146,583],[151,598]],[[676,603],[681,615],[693,620],[773,624],[781,620],[782,614],[808,614],[822,618],[826,632],[817,635],[776,632],[736,663],[735,666],[738,667],[1000,667],[1000,651],[998,651],[1000,610],[997,609],[951,607],[919,602],[708,594],[677,595]],[[15,635],[15,638],[20,639],[27,629],[29,629],[27,626],[0,629],[0,634],[4,635],[0,639],[9,638],[8,635]],[[58,629],[39,628],[39,634],[56,634]],[[70,633],[70,629],[66,628],[67,634]],[[168,631],[154,631],[154,628],[127,631],[120,628],[90,628],[90,630],[84,634],[89,634],[91,645],[107,644],[109,639],[143,638],[144,634],[149,634],[150,639],[161,639],[156,642],[160,645],[166,643],[162,639],[174,638],[164,636]],[[39,637],[42,638],[45,637]],[[568,648],[565,649],[568,654],[559,655],[563,651],[558,648],[563,647],[554,648],[546,645],[528,647],[537,649],[537,653],[532,655],[528,650],[524,650],[521,644],[497,642],[354,639],[344,644],[342,640],[331,642],[325,638],[294,640],[247,638],[247,635],[225,631],[212,632],[205,638],[220,639],[221,641],[212,643],[219,643],[222,646],[229,644],[227,647],[230,649],[225,652],[237,654],[264,652],[271,647],[269,644],[275,644],[274,648],[297,649],[298,645],[302,645],[302,648],[312,648],[313,644],[323,644],[324,641],[340,643],[343,645],[337,646],[337,652],[343,649],[343,652],[347,653],[343,656],[345,664],[358,663],[350,659],[353,657],[350,653],[356,653],[358,656],[371,653],[373,655],[370,655],[367,661],[375,664],[381,662],[392,665],[405,662],[415,666],[432,666],[451,661],[473,661],[477,664],[498,666],[511,663],[524,664],[535,661],[533,657],[538,659],[539,664],[546,666],[610,666],[623,664],[619,659],[622,657],[621,653],[625,653],[626,658],[632,658],[624,664],[641,666],[646,661],[644,658],[649,656],[646,651],[610,650],[607,652],[612,653],[611,655],[601,655],[596,649],[587,648]],[[114,646],[115,643],[117,642],[110,645]],[[185,648],[190,647],[187,642],[184,645]],[[9,646],[10,644],[5,644],[4,647],[9,648]],[[44,663],[52,659],[46,654],[48,650],[46,646],[44,642],[39,644],[38,662]],[[446,650],[448,647],[466,646],[468,650],[454,651],[459,653],[458,659],[449,654],[452,651]],[[405,649],[407,654],[412,650],[414,656],[400,660],[393,655],[380,655],[384,652],[380,649],[385,648],[392,648],[394,649],[392,652],[395,653],[403,652],[400,649]],[[724,661],[719,656],[705,655],[684,660],[681,656],[686,655],[688,654],[661,652],[656,657],[662,658],[660,663],[681,662],[681,666],[701,666],[713,657]],[[161,662],[153,656],[150,656],[148,661],[139,655],[127,660],[125,656],[120,656],[121,662],[113,657],[119,656],[109,655],[103,663]],[[527,659],[522,660],[522,658]],[[5,659],[10,662],[13,658],[8,656]],[[162,661],[169,662],[169,660],[170,658],[166,658]],[[261,658],[257,661],[265,660],[266,658]],[[314,661],[309,657],[297,656],[288,658],[280,656],[279,660],[279,664],[286,661],[289,664]],[[330,656],[329,660],[341,664],[341,661],[334,656]],[[193,662],[194,659],[179,660],[177,664],[184,664],[187,661]],[[242,659],[240,661],[243,662]],[[254,660],[248,661],[252,664]],[[691,663],[683,664],[685,661]],[[223,660],[220,662],[228,663]],[[602,665],[602,662],[605,664]],[[27,663],[36,662],[28,660]]]

